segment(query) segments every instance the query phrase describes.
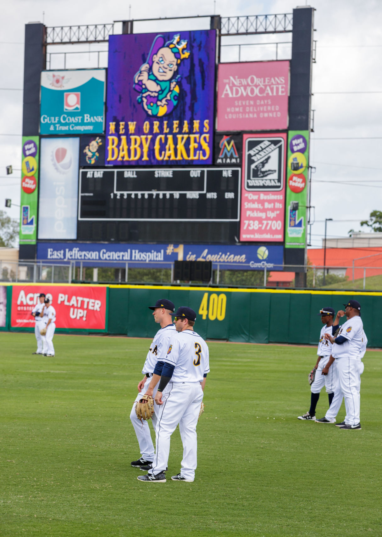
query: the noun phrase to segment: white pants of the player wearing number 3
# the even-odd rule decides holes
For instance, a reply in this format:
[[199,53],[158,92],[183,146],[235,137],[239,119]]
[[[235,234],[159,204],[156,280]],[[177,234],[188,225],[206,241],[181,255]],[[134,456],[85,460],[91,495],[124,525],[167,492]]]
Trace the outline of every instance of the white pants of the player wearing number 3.
[[180,475],[194,481],[197,465],[196,424],[203,390],[200,382],[169,382],[162,396],[155,436],[155,458],[149,474],[157,475],[167,468],[170,437],[179,423],[183,444]]

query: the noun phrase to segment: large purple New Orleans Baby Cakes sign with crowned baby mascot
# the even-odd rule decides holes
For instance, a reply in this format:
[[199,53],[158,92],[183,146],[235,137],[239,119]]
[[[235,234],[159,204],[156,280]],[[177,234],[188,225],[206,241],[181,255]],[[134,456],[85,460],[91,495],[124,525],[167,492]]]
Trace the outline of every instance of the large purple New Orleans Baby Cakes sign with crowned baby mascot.
[[105,164],[212,164],[216,32],[109,38]]

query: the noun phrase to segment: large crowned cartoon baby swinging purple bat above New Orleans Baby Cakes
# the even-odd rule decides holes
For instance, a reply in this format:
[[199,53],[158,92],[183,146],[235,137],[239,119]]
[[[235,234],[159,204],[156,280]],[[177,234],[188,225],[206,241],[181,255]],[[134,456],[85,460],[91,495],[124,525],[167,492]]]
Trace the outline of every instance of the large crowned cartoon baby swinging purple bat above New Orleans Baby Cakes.
[[137,101],[152,117],[171,114],[178,104],[181,77],[175,76],[175,72],[190,55],[186,47],[187,41],[181,40],[180,34],[166,44],[163,35],[157,35],[147,62],[134,77],[134,89],[140,93]]

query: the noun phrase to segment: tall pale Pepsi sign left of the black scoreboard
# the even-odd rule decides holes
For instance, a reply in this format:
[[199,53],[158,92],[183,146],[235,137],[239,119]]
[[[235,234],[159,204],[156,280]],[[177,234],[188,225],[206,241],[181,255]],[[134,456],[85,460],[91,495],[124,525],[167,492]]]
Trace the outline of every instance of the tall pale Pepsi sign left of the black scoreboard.
[[42,138],[39,239],[77,238],[79,137]]

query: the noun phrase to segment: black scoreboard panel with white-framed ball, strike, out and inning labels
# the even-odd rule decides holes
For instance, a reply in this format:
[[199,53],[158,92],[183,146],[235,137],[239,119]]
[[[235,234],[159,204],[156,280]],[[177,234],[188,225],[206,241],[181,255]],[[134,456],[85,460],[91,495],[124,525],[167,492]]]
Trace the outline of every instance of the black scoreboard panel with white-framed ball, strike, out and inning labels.
[[78,220],[239,221],[239,168],[80,170]]

